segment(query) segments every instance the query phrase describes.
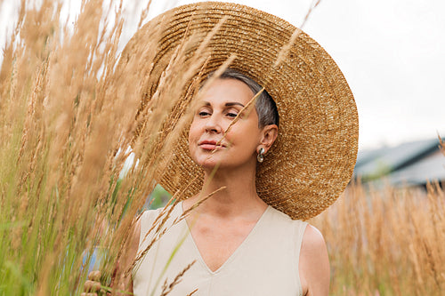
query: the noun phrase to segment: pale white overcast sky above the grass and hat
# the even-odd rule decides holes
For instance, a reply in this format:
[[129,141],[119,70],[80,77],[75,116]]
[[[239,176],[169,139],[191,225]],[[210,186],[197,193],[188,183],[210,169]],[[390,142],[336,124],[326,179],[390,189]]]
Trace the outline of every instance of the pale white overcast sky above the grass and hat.
[[[69,12],[80,0],[69,1]],[[125,0],[129,14],[147,0]],[[152,0],[150,17],[190,0]],[[237,0],[300,27],[312,0]],[[0,7],[0,44],[15,0]],[[445,137],[445,1],[321,0],[303,31],[336,60],[359,110],[359,148]],[[73,15],[75,13],[72,13]],[[129,18],[125,42],[139,18]],[[123,42],[122,46],[125,44]]]

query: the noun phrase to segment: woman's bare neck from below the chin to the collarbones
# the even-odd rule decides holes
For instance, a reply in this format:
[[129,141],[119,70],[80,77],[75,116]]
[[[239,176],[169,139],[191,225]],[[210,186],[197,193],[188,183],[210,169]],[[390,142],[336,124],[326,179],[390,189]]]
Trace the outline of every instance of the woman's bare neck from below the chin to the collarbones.
[[[223,188],[216,193],[215,190]],[[200,204],[195,212],[220,217],[258,216],[267,208],[267,204],[257,195],[255,188],[255,169],[241,167],[234,169],[218,169],[214,174],[205,172],[204,186],[198,196],[184,202],[189,208],[200,199],[209,197]]]

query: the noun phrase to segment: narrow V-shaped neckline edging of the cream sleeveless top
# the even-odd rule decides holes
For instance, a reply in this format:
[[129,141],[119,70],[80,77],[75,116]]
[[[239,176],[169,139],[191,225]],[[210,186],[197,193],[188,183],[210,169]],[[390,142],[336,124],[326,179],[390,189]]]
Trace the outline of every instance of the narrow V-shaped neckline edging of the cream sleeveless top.
[[[267,208],[264,210],[263,214],[261,215],[261,217],[256,221],[255,226],[249,231],[249,233],[244,238],[244,240],[241,242],[241,244],[239,244],[239,246],[235,249],[235,251],[233,251],[231,253],[231,256],[229,256],[229,258],[227,260],[225,260],[223,262],[223,264],[219,268],[217,268],[215,270],[212,270],[212,269],[210,269],[207,266],[206,261],[204,260],[204,258],[201,255],[201,252],[199,252],[198,245],[196,244],[195,239],[191,235],[191,228],[189,227],[189,223],[187,223],[187,220],[185,218],[183,219],[183,222],[185,224],[185,228],[189,232],[189,237],[190,237],[190,242],[191,242],[192,248],[195,250],[194,252],[196,252],[196,254],[198,256],[198,261],[201,263],[201,265],[206,269],[206,271],[210,275],[213,276],[213,275],[216,275],[216,274],[220,273],[221,270],[235,258],[235,256],[240,252],[239,250],[241,250],[243,248],[243,246],[245,244],[247,244],[247,242],[250,240],[250,237],[253,236],[253,234],[255,233],[256,229],[261,224],[262,220],[264,220],[264,216],[266,215],[266,212],[269,212],[270,208],[271,208],[271,206],[268,205]],[[181,210],[181,213],[184,212],[184,209],[182,207],[182,202],[180,204],[180,210]]]

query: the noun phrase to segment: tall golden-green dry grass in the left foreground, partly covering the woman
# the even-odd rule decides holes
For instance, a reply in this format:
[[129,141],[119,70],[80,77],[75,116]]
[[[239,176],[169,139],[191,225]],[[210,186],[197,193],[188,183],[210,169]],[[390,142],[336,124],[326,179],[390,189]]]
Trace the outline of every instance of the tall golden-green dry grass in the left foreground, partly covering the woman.
[[[112,3],[83,1],[71,28],[62,2],[21,2],[0,70],[2,295],[79,292],[97,246],[109,284],[155,172],[188,123],[178,101],[205,58],[184,69],[184,42],[142,104],[163,24],[119,63],[122,2]],[[130,153],[138,162],[122,178]]]

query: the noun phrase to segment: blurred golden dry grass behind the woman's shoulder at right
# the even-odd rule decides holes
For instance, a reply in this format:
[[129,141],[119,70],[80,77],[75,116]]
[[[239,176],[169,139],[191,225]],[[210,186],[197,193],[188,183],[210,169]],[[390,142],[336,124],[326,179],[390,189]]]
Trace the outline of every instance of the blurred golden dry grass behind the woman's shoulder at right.
[[352,185],[312,222],[328,244],[333,295],[442,295],[445,195],[439,184]]

